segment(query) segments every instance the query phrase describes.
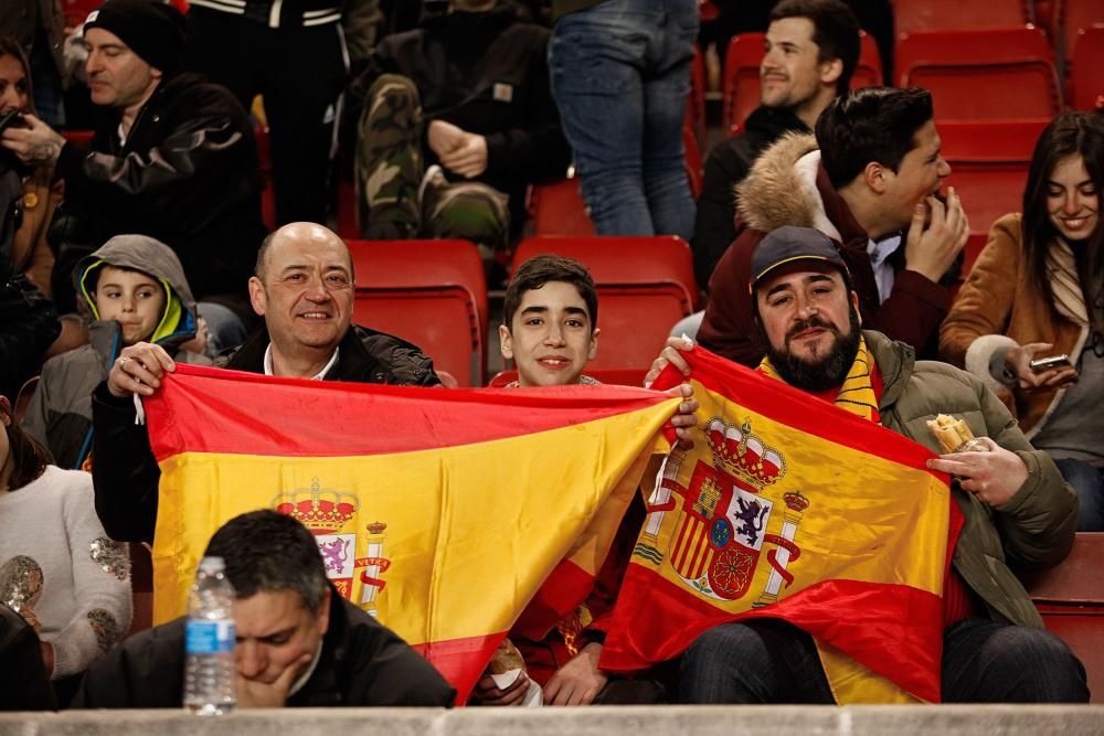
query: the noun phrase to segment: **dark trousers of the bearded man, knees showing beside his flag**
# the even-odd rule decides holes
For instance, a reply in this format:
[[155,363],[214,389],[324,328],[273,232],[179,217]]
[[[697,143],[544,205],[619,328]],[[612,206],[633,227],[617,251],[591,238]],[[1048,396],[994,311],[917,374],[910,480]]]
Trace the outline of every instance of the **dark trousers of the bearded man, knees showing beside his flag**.
[[[835,701],[813,638],[776,619],[724,623],[682,655],[682,703]],[[1086,703],[1085,670],[1052,633],[983,619],[943,633],[944,703]]]

